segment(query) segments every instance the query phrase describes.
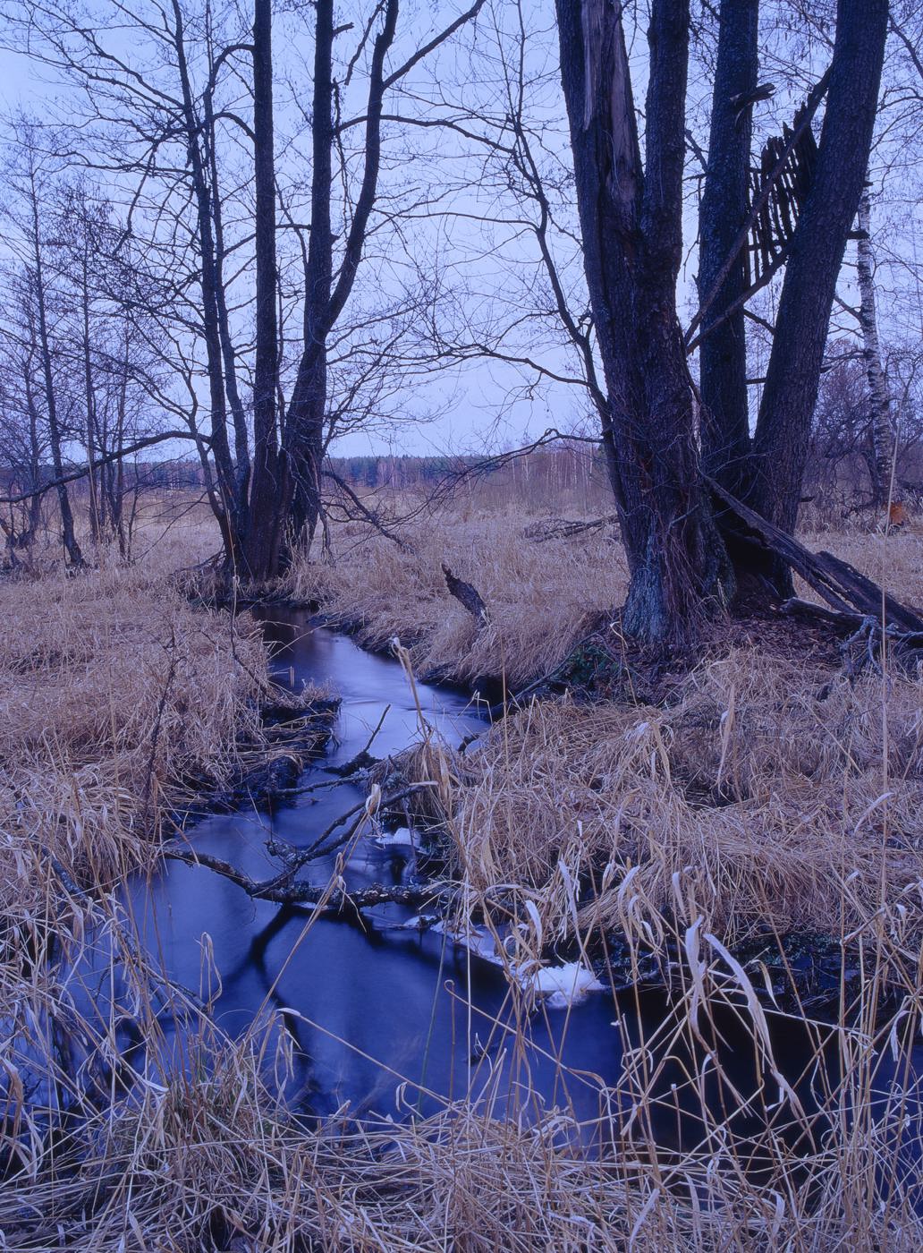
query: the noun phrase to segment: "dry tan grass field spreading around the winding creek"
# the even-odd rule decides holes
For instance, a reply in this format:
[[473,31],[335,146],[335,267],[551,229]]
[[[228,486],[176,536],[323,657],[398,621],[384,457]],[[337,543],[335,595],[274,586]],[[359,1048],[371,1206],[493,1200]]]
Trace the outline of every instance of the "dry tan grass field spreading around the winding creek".
[[[597,965],[609,950],[614,977],[650,981],[654,962],[671,984],[589,1158],[567,1146],[566,1103],[531,1123],[465,1100],[400,1125],[298,1120],[268,1081],[284,1032],[254,1022],[230,1042],[195,990],[158,985],[115,890],[155,872],[190,779],[253,753],[269,690],[253,619],[190,603],[217,546],[202,509],[152,502],[133,565],[103,553],[65,578],[39,555],[0,583],[6,1247],[920,1247],[920,677],[888,658],[850,677],[835,642],[781,615],[649,664],[612,625],[612,526],[546,538],[605,511],[595,491],[488,481],[394,526],[400,544],[333,524],[276,589],[369,648],[397,638],[418,675],[492,700],[526,689],[463,753],[426,741],[401,769],[440,783],[421,817],[445,841],[457,928],[521,923],[511,971],[549,947]],[[923,603],[913,525],[804,539]],[[88,950],[123,971],[104,1015],[70,982]],[[195,1065],[128,1084],[116,1020],[157,1040],[165,1005]],[[532,1012],[523,995],[523,1030]],[[731,1027],[753,1095],[723,1049]],[[786,1034],[807,1041],[794,1079]],[[700,1134],[665,1146],[679,1100]]]

